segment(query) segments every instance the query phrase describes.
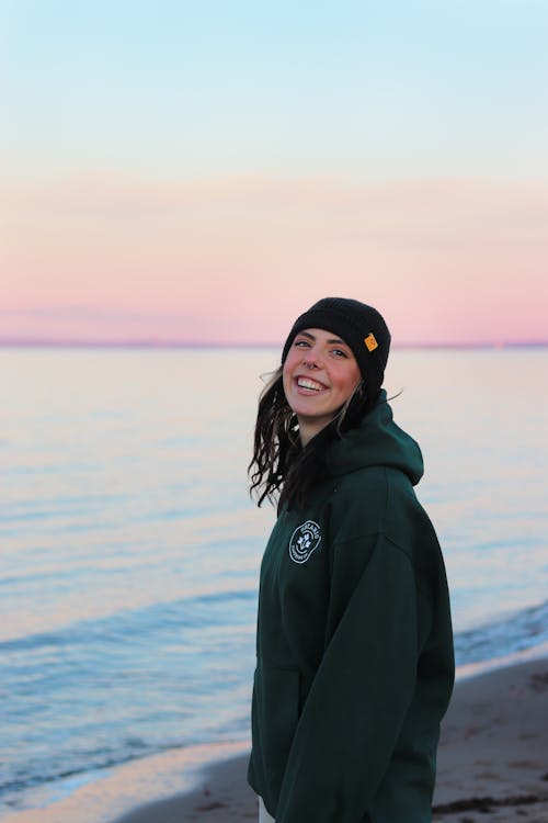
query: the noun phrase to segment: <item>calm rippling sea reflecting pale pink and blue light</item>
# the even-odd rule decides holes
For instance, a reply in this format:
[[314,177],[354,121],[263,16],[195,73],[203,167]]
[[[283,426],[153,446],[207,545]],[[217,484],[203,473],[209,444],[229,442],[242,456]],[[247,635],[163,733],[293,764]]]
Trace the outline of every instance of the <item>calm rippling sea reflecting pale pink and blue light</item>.
[[[273,350],[2,350],[0,815],[44,783],[243,741]],[[548,350],[395,351],[457,662],[548,642]]]

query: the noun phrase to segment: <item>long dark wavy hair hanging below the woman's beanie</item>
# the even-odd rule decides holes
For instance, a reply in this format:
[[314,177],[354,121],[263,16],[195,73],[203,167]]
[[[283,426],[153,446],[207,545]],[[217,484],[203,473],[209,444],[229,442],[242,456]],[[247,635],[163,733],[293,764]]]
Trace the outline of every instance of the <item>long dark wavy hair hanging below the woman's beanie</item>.
[[306,505],[310,492],[324,476],[329,444],[355,427],[377,397],[368,397],[361,381],[333,420],[305,448],[300,443],[297,416],[287,403],[279,367],[259,398],[253,456],[248,467],[250,494],[258,505],[264,499],[278,507]]

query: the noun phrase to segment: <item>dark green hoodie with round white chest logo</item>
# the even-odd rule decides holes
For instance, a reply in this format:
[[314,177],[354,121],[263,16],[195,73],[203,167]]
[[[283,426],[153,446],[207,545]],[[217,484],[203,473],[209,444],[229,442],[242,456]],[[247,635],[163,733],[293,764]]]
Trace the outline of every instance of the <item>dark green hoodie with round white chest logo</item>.
[[261,566],[249,782],[276,823],[431,820],[454,679],[419,446],[383,392]]

